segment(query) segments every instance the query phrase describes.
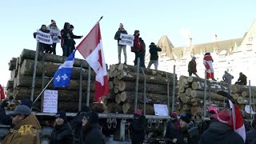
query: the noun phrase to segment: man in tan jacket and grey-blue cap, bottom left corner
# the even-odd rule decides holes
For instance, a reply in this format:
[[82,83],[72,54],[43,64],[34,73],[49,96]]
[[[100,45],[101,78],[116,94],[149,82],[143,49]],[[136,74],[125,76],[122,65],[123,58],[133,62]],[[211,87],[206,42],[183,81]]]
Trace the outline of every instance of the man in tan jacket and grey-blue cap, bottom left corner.
[[34,114],[31,114],[28,106],[16,106],[12,117],[14,128],[10,129],[2,143],[40,143],[39,130],[41,130],[41,126]]

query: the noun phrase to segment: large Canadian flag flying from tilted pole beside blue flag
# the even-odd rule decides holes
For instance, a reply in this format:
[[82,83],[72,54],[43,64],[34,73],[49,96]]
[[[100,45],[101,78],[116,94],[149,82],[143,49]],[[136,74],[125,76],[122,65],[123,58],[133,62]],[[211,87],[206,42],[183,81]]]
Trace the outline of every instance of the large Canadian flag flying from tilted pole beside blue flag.
[[96,73],[95,102],[101,102],[102,97],[110,92],[108,86],[106,62],[102,49],[102,35],[99,22],[96,23],[86,38],[77,46],[77,50]]

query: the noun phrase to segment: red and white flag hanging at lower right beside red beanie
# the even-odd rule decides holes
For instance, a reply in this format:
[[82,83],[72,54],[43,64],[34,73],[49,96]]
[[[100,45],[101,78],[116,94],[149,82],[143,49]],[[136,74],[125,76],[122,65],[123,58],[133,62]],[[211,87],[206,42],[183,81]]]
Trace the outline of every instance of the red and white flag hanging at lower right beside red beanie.
[[233,119],[232,127],[234,129],[234,132],[239,134],[242,137],[243,141],[246,142],[246,128],[243,123],[242,114],[238,106],[234,104],[232,106],[232,119]]

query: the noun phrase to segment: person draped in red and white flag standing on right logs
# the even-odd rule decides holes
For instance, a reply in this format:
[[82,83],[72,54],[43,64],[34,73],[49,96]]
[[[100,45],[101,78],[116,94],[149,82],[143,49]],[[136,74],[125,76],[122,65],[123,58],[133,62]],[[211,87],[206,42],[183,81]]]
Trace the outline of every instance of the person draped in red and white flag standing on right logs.
[[206,79],[212,79],[216,81],[214,78],[214,66],[213,66],[214,59],[210,56],[210,53],[206,53],[203,58],[203,64],[206,66]]

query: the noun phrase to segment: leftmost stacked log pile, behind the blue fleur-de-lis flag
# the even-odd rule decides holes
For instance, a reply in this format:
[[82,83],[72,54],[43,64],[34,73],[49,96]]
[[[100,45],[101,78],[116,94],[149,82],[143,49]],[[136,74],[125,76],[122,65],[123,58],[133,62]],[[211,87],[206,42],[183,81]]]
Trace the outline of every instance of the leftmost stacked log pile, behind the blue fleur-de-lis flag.
[[[22,99],[30,98],[32,79],[34,72],[34,50],[22,51],[22,54],[18,58],[12,58],[9,63],[10,70],[10,81],[7,83],[7,97],[10,99]],[[38,54],[38,65],[36,71],[35,79],[35,89],[34,89],[34,99],[42,91],[42,80],[44,79],[44,86],[50,79],[53,78],[54,73],[58,70],[58,67],[65,62],[66,57],[44,54],[45,62],[42,62],[42,53]],[[71,75],[70,86],[56,88],[54,89],[53,82],[46,90],[58,90],[58,109],[66,110],[67,112],[77,112],[78,111],[78,101],[79,101],[79,78],[80,70],[82,65],[82,104],[86,103],[87,95],[87,79],[88,79],[88,64],[85,60],[77,59],[74,60],[74,68]],[[42,78],[44,66],[45,78]],[[101,103],[95,104],[94,102],[94,72],[91,70],[91,82],[90,82],[90,107],[92,110],[97,112],[103,111],[103,106]],[[39,110],[41,107],[41,98],[35,105]]]

